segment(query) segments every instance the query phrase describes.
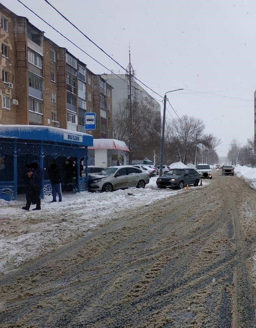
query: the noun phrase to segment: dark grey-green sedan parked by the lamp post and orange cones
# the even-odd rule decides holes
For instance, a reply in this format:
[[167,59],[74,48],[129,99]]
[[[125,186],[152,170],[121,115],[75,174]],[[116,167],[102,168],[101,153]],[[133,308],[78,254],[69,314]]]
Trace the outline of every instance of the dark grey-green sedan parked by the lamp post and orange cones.
[[179,188],[193,184],[198,186],[200,174],[194,169],[170,169],[165,175],[159,176],[156,184],[159,188]]

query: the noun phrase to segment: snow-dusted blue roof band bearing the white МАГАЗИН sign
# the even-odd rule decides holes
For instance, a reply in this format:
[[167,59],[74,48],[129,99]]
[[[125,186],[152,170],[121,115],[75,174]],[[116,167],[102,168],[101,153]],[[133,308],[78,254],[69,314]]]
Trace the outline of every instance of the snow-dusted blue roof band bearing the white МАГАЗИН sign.
[[92,135],[43,125],[0,125],[1,138],[59,142],[77,146],[93,145]]

